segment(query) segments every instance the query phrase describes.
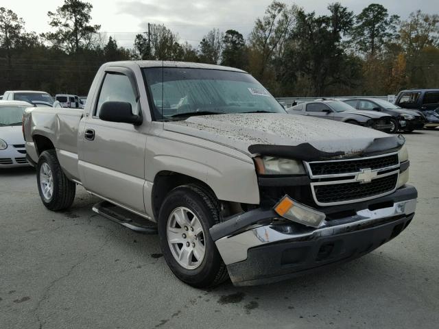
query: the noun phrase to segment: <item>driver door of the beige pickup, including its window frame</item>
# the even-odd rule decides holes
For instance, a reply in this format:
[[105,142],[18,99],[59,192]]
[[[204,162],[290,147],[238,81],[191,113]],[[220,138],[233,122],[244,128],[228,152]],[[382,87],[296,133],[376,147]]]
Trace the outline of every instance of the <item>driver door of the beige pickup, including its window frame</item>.
[[[84,187],[98,196],[139,212],[145,212],[146,135],[139,126],[99,119],[106,101],[131,104],[141,112],[134,73],[125,68],[105,72],[92,112],[82,119],[78,141],[78,167]],[[129,77],[129,73],[132,76]],[[134,79],[134,82],[133,82]]]

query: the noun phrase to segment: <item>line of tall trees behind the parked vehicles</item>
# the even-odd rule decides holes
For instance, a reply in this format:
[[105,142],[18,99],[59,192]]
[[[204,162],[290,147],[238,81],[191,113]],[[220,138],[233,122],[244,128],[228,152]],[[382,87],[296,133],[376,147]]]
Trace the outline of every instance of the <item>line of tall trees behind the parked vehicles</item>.
[[222,64],[254,75],[276,97],[388,95],[439,88],[439,15],[416,10],[403,20],[372,3],[355,14],[331,3],[327,14],[273,1],[249,36],[207,32],[198,47],[165,25],[150,25],[131,48],[91,24],[93,5],[64,0],[47,12],[51,31],[27,32],[18,14],[0,8],[0,93],[45,90],[86,95],[100,65],[114,60]]

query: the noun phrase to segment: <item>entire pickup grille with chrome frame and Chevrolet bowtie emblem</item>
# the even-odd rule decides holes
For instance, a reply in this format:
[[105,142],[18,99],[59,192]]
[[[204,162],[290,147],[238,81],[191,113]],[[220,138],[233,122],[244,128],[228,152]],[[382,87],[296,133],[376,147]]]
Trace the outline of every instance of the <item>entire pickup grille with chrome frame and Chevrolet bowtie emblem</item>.
[[349,204],[392,193],[399,178],[397,153],[359,159],[305,162],[319,206]]

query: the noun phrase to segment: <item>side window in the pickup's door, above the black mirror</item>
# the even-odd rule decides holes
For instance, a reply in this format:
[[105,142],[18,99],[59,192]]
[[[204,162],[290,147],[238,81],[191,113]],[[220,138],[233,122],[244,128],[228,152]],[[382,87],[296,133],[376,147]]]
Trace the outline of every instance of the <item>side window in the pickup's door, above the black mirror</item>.
[[106,73],[97,101],[95,115],[99,116],[101,106],[106,101],[126,101],[131,104],[131,111],[136,114],[137,102],[130,80],[120,73]]

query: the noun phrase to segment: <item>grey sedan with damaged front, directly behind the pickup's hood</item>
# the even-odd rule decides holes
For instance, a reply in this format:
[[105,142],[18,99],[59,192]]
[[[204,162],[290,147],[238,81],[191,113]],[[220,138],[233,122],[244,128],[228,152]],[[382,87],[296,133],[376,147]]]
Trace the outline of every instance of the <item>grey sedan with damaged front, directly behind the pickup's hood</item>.
[[348,104],[337,100],[307,101],[287,108],[287,112],[353,123],[354,125],[362,125],[363,127],[370,127],[383,132],[390,132],[392,129],[390,115],[380,112],[358,111],[348,106]]

